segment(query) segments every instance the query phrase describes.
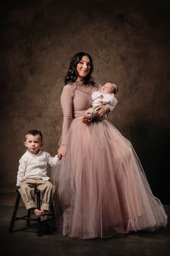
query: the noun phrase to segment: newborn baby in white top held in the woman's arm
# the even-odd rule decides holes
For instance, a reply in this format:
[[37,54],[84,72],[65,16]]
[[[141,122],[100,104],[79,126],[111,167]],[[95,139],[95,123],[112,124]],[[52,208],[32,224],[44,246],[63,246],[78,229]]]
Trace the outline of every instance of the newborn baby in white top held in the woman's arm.
[[[103,87],[101,88],[101,91],[95,91],[92,93],[91,97],[94,100],[92,103],[92,108],[89,108],[85,113],[82,113],[83,119],[82,122],[86,125],[88,125],[91,120],[99,113],[99,110],[96,110],[96,107],[100,105],[112,105],[114,96],[118,92],[118,88],[116,84],[113,82],[107,82]],[[105,115],[103,119],[95,117],[99,121],[104,120],[108,114]]]

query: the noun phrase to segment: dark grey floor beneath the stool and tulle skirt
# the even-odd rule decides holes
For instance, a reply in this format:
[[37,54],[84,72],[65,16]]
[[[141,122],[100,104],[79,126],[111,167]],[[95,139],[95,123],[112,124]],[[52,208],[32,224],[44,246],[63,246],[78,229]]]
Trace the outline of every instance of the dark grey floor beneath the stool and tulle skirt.
[[[170,205],[164,206],[170,218]],[[0,206],[1,256],[170,256],[170,224],[153,233],[132,232],[124,237],[108,239],[73,239],[52,233],[49,222],[42,224],[42,237],[37,237],[37,225],[26,227],[26,221],[14,223],[8,233],[14,207]],[[18,213],[25,214],[25,207]]]

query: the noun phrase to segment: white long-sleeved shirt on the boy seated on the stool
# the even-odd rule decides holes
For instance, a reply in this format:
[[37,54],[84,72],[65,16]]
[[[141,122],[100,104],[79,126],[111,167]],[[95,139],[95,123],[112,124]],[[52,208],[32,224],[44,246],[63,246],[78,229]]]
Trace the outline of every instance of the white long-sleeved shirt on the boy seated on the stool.
[[38,154],[31,154],[26,151],[21,157],[17,173],[17,186],[21,186],[24,179],[41,177],[42,180],[49,180],[47,177],[47,166],[55,166],[59,163],[57,155],[51,157],[48,152],[39,151]]

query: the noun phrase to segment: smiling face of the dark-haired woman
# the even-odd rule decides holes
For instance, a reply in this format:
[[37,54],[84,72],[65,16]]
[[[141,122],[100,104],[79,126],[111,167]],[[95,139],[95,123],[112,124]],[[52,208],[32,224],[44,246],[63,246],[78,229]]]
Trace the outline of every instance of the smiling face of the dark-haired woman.
[[90,72],[91,63],[88,56],[83,56],[77,64],[77,80],[83,81],[84,77]]

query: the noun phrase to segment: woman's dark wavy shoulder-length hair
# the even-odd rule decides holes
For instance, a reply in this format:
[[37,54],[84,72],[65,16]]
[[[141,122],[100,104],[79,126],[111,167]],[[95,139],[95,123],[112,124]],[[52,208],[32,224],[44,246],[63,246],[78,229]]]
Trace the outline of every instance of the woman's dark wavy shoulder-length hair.
[[83,56],[87,56],[91,63],[91,69],[87,76],[84,78],[84,84],[91,84],[94,85],[94,78],[91,74],[94,72],[93,60],[91,56],[86,52],[78,52],[76,55],[73,56],[70,62],[70,67],[68,72],[65,76],[65,85],[66,84],[73,84],[77,79],[77,64],[81,61]]

